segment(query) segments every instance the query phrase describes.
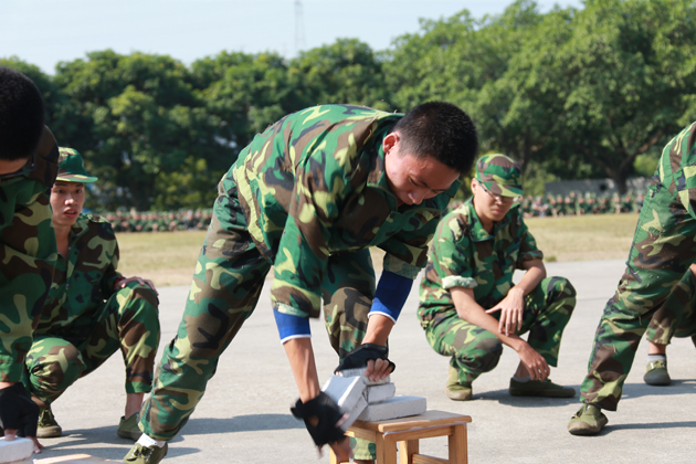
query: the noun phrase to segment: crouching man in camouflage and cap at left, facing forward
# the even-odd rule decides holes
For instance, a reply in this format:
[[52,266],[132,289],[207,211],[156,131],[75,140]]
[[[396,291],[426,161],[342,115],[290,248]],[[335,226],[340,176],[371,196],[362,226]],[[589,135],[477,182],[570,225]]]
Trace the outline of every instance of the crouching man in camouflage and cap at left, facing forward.
[[138,411],[152,383],[159,345],[158,299],[150,281],[118,273],[118,244],[104,219],[82,214],[87,175],[80,154],[60,149],[51,189],[59,260],[34,339],[24,383],[41,409],[39,437],[61,436],[51,404],[77,379],[120,349],[126,410],[117,434],[137,440]]

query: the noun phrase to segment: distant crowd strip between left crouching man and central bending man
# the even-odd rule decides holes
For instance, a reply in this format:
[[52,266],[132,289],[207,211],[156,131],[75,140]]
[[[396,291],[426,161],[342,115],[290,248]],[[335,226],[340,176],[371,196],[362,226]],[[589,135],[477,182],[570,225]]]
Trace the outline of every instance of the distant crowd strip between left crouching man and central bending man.
[[204,231],[210,224],[212,209],[180,211],[147,211],[135,209],[103,214],[114,232],[175,232]]

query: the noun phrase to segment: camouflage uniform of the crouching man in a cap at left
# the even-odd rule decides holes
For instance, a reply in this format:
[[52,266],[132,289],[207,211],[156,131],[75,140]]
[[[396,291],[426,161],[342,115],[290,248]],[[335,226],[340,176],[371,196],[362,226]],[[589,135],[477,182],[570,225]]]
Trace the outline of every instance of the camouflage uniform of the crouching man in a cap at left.
[[159,345],[157,295],[137,282],[114,291],[122,278],[117,266],[118,244],[110,224],[81,214],[71,230],[67,259],[59,255],[27,355],[25,387],[46,405],[119,348],[126,392],[151,390]]

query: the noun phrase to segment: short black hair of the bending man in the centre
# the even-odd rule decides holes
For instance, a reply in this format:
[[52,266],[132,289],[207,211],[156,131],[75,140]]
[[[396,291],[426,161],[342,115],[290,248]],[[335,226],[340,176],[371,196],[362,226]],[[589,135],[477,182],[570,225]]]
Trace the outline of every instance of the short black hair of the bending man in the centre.
[[465,175],[478,151],[478,135],[472,118],[456,105],[428,102],[409,110],[392,128],[400,135],[400,152],[432,156]]

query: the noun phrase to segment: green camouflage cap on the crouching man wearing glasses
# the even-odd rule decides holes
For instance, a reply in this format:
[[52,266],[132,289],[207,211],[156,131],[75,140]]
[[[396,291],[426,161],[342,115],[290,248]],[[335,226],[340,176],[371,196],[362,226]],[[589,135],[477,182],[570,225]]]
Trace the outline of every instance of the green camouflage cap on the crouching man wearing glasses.
[[502,197],[523,194],[521,166],[505,155],[494,154],[478,158],[476,180],[493,194]]

